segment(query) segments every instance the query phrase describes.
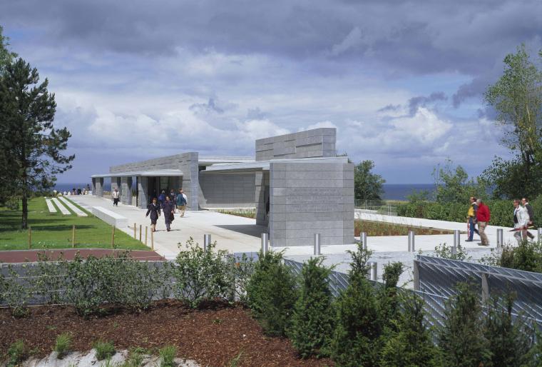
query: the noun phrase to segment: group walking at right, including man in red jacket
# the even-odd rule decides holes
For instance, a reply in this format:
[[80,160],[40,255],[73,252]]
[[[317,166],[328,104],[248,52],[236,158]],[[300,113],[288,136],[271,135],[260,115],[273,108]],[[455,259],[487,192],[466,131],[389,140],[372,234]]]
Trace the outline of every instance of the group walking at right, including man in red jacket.
[[[489,239],[486,235],[486,226],[491,219],[491,212],[489,207],[481,200],[471,197],[471,204],[469,206],[469,212],[467,213],[467,223],[469,229],[469,238],[466,242],[474,241],[474,233],[480,236],[480,246],[489,246]],[[513,236],[518,243],[526,240],[527,238],[534,238],[533,234],[528,231],[528,228],[533,226],[534,223],[534,211],[531,204],[528,202],[528,198],[515,199],[513,201]],[[478,225],[478,229],[476,229]]]

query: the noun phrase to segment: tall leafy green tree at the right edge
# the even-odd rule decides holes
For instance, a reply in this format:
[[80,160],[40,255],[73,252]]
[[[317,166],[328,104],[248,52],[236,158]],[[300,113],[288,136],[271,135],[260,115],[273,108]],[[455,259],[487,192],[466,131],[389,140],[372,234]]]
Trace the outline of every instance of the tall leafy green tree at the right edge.
[[[542,51],[539,55],[542,59]],[[489,86],[484,99],[497,112],[501,143],[516,157],[496,158],[484,175],[496,184],[495,196],[534,197],[542,187],[542,71],[523,44],[516,54],[506,55],[504,64],[503,75]]]

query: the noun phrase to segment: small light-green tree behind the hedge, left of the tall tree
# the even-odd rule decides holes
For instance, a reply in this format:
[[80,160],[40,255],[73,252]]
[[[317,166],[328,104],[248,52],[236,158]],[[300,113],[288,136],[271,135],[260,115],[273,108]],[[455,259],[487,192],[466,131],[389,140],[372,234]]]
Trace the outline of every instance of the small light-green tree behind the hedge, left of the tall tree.
[[436,166],[433,170],[436,192],[435,200],[439,203],[467,203],[469,197],[485,198],[484,181],[469,180],[469,174],[461,166],[446,159],[444,166]]

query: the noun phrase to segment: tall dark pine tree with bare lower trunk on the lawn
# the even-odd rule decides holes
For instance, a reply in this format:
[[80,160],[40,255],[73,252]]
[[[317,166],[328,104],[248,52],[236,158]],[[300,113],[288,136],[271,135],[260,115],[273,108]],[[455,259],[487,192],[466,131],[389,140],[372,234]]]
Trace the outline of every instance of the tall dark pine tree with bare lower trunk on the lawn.
[[[8,64],[0,79],[1,149],[7,153],[8,180],[12,196],[22,201],[22,228],[28,226],[28,199],[34,191],[54,186],[56,174],[71,168],[75,156],[62,154],[71,134],[54,129],[54,94],[41,84],[36,69],[23,59]],[[0,183],[0,186],[6,181]]]

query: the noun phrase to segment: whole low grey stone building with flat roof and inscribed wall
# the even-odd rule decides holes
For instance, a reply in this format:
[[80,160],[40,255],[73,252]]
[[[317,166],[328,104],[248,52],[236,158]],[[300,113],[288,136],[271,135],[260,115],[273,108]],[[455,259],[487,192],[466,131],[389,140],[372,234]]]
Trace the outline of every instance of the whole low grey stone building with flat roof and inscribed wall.
[[335,129],[313,129],[258,139],[255,158],[190,152],[111,166],[92,176],[93,194],[102,196],[111,177],[121,203],[146,208],[162,190],[182,187],[190,211],[255,208],[272,246],[306,246],[315,233],[322,245],[353,243],[354,165],[335,142]]

